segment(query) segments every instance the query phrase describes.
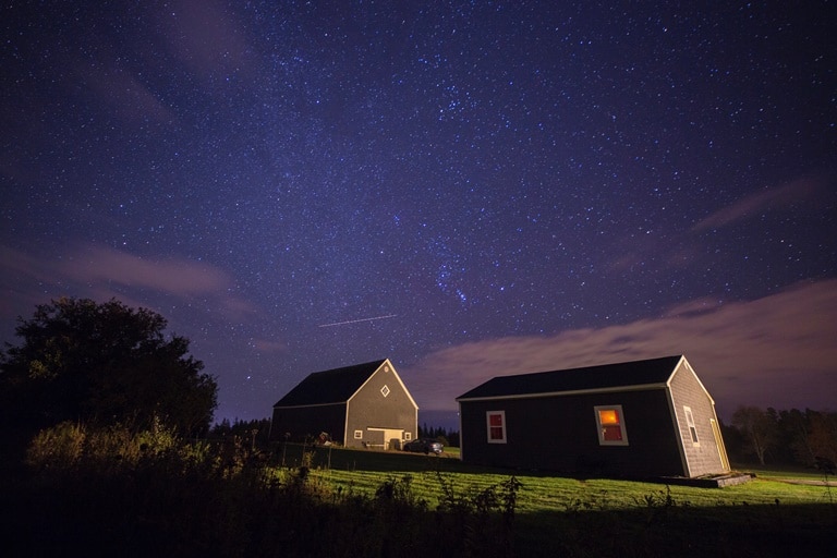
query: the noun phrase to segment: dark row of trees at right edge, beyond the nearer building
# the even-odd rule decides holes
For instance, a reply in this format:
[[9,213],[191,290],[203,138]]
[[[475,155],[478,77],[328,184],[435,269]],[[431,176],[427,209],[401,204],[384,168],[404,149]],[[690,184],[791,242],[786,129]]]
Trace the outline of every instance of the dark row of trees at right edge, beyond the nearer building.
[[724,428],[724,440],[735,461],[833,468],[837,462],[837,412],[740,407]]

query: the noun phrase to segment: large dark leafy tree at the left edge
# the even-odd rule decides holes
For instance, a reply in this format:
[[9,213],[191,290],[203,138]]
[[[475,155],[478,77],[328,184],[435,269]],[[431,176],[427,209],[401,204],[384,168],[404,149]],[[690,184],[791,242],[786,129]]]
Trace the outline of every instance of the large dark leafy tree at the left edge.
[[59,299],[19,318],[22,342],[0,353],[0,404],[8,418],[40,428],[62,421],[144,428],[155,420],[193,435],[208,428],[218,386],[166,336],[159,314],[116,299]]

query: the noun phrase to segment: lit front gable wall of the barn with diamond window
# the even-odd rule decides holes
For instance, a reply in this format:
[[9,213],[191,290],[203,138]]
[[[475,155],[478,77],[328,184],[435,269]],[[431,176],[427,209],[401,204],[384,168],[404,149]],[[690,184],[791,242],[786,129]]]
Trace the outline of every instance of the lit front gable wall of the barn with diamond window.
[[[384,386],[389,389],[386,397],[381,393]],[[404,388],[395,368],[385,363],[349,401],[345,445],[360,447],[363,441],[379,442],[378,438],[383,434],[380,432],[372,433],[367,428],[404,430],[415,438],[417,425],[418,416],[415,402]],[[362,440],[353,438],[354,430],[363,430]]]

